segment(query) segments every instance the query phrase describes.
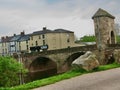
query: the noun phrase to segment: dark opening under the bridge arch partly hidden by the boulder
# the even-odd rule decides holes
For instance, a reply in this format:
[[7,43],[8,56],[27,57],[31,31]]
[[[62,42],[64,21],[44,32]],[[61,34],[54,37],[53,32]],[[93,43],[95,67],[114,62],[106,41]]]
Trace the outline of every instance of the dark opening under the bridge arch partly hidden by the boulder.
[[67,60],[65,61],[65,63],[63,64],[62,71],[66,72],[66,71],[70,70],[72,62],[83,54],[85,54],[85,52],[76,52],[76,53],[73,53],[72,55],[70,55],[67,58]]

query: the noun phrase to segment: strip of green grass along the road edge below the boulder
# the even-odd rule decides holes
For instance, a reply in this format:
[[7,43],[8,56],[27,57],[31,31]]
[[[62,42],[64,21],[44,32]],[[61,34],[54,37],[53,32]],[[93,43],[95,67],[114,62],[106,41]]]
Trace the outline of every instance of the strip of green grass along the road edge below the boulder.
[[96,68],[92,71],[89,71],[89,72],[85,71],[83,69],[81,69],[81,70],[79,70],[79,69],[71,70],[71,71],[66,72],[64,74],[60,74],[60,75],[52,76],[52,77],[49,77],[49,78],[33,81],[33,82],[30,82],[30,83],[26,83],[26,84],[15,86],[15,87],[0,88],[0,90],[29,90],[29,89],[53,84],[55,82],[58,82],[58,81],[61,81],[61,80],[64,80],[64,79],[69,79],[69,78],[72,78],[72,77],[75,77],[75,76],[79,76],[79,75],[83,75],[83,74],[87,74],[87,73],[91,73],[91,72],[108,70],[108,69],[112,69],[112,68],[118,68],[118,67],[120,67],[120,64],[113,63],[113,64],[109,64],[109,65],[99,66],[98,68]]

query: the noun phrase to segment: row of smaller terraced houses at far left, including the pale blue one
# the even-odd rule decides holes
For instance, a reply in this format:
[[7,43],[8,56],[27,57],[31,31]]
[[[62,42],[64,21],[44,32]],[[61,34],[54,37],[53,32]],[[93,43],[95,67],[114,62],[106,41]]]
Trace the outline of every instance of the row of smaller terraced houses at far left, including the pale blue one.
[[30,52],[29,35],[21,32],[19,35],[2,37],[0,41],[0,55],[13,55],[13,53]]

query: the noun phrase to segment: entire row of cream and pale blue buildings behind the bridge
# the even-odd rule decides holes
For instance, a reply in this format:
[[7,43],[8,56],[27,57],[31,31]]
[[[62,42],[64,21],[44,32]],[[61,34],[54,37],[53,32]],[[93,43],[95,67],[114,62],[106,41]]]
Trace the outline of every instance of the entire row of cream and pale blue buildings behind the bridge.
[[2,37],[0,42],[1,55],[13,55],[13,53],[30,53],[31,51],[55,50],[73,47],[74,32],[64,29],[50,30],[46,27],[43,30],[10,37]]

